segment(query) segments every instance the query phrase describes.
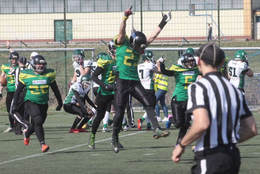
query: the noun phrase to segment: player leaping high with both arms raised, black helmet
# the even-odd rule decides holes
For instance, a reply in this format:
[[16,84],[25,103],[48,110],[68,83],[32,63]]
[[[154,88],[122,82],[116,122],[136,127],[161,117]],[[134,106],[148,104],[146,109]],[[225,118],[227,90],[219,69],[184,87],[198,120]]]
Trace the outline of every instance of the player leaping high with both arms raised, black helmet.
[[163,19],[161,23],[152,31],[149,37],[140,31],[135,31],[130,38],[126,35],[126,20],[132,14],[132,7],[124,12],[123,20],[120,24],[119,34],[114,37],[114,44],[116,46],[116,60],[117,60],[117,76],[114,85],[115,97],[115,116],[114,129],[112,135],[112,148],[114,152],[119,152],[118,133],[121,127],[125,114],[125,105],[129,93],[139,100],[143,106],[146,107],[146,112],[154,127],[154,138],[167,137],[170,132],[162,131],[156,119],[156,114],[153,107],[153,102],[150,100],[146,90],[140,82],[137,64],[140,60],[140,55],[144,53],[144,49],[152,43],[158,36],[166,23],[171,19],[171,10],[168,14],[162,12]]

